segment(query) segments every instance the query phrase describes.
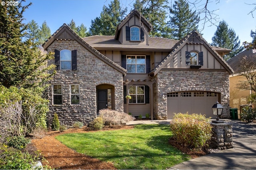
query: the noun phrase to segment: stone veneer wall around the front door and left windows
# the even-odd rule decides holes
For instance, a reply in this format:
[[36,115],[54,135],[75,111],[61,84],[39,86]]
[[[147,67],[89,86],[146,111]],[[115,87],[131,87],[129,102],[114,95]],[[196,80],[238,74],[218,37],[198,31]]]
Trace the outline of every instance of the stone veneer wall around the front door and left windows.
[[[56,70],[56,75],[50,80],[49,126],[54,112],[58,114],[60,124],[68,126],[72,126],[75,121],[81,121],[86,125],[96,118],[96,86],[100,84],[114,86],[114,107],[118,111],[123,111],[123,74],[121,72],[104,63],[77,41],[55,40],[47,50],[54,52],[55,49],[77,50],[77,70]],[[48,64],[54,64],[54,60],[48,61]],[[62,105],[53,105],[53,84],[62,85]],[[70,104],[71,84],[80,85],[79,105]]]

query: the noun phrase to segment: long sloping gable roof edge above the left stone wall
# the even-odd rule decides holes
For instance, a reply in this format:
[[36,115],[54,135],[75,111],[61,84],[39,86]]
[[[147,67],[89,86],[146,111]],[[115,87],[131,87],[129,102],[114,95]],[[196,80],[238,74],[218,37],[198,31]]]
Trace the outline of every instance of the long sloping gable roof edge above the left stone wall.
[[112,66],[114,69],[118,70],[122,74],[126,75],[127,70],[122,68],[120,65],[114,63],[102,53],[90,46],[86,41],[80,38],[66,23],[64,23],[52,36],[42,45],[46,50],[56,39],[65,39],[65,40],[76,40],[84,48],[90,51],[93,55],[98,57],[104,63]]

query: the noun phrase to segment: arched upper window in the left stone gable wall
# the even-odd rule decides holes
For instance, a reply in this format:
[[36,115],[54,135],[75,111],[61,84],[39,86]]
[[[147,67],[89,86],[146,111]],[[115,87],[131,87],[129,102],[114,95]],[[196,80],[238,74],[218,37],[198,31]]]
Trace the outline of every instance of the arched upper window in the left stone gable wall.
[[72,54],[70,50],[64,49],[60,51],[60,70],[71,70]]

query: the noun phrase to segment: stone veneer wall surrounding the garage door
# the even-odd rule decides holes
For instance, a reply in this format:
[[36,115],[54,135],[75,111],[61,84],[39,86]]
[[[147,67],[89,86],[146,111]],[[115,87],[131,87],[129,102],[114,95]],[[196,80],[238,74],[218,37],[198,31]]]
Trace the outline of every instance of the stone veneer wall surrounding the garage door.
[[184,91],[220,93],[224,107],[221,118],[230,118],[228,71],[163,68],[154,81],[154,119],[167,119],[167,93]]

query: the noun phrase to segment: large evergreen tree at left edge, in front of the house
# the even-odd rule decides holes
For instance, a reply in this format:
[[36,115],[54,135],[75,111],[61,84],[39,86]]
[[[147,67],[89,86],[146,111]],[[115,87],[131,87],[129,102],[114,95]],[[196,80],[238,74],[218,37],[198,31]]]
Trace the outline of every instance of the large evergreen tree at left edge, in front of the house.
[[42,55],[34,41],[27,38],[27,25],[22,20],[28,6],[22,6],[21,1],[18,6],[0,8],[0,84],[7,88],[38,86],[52,76],[47,70],[53,65],[38,69],[52,59],[52,53]]

